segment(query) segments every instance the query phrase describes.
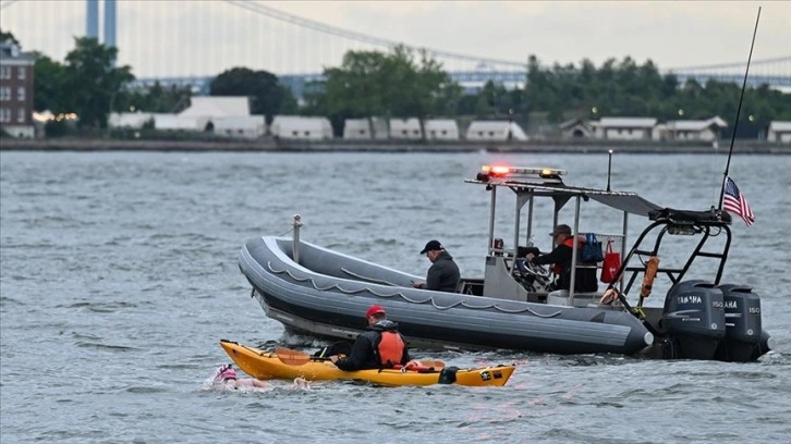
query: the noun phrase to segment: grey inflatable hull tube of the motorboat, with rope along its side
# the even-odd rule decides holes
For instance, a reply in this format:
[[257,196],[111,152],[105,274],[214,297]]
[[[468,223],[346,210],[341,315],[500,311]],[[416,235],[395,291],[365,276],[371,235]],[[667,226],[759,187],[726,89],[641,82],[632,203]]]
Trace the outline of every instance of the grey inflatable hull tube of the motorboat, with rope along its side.
[[640,320],[610,308],[565,307],[413,288],[419,276],[288,238],[261,237],[240,269],[267,316],[288,330],[336,340],[365,329],[362,313],[385,307],[412,346],[632,355],[653,344]]

